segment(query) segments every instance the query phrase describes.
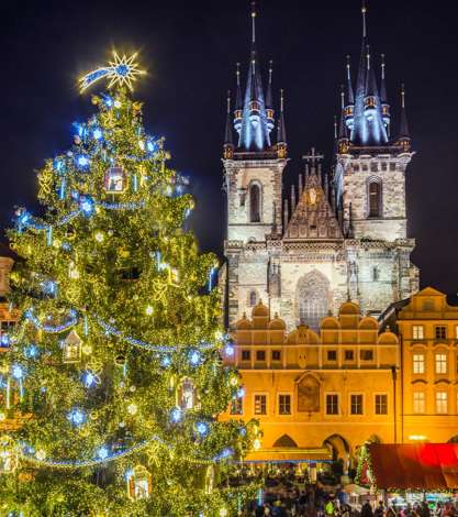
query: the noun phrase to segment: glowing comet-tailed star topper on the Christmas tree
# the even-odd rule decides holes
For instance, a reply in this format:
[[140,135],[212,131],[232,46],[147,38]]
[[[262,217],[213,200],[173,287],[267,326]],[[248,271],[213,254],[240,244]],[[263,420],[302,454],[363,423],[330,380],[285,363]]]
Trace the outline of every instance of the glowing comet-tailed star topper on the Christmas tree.
[[115,85],[125,85],[131,91],[133,90],[132,82],[137,79],[137,76],[146,74],[138,67],[135,62],[137,54],[132,54],[127,57],[125,54],[120,57],[116,51],[113,51],[113,59],[109,62],[108,66],[102,66],[93,72],[89,72],[79,79],[79,88],[81,94],[98,80],[107,77],[110,79],[109,88]]

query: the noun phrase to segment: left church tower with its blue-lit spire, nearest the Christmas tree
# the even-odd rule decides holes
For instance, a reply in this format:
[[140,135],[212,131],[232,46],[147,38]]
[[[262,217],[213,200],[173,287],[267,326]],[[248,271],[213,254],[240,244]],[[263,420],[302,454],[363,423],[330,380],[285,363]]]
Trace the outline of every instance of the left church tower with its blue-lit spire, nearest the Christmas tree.
[[[224,184],[227,196],[227,235],[224,253],[227,258],[230,319],[239,314],[239,298],[256,302],[267,295],[267,254],[260,253],[256,264],[241,268],[241,255],[247,243],[259,246],[282,233],[282,173],[287,165],[287,139],[283,97],[277,117],[277,142],[272,143],[276,125],[272,102],[272,63],[269,64],[266,90],[261,63],[256,48],[256,2],[252,2],[252,48],[246,69],[246,88],[242,91],[237,64],[237,89],[234,119],[227,97],[227,119],[223,152]],[[236,132],[234,143],[233,128]],[[256,279],[252,271],[257,270]],[[260,278],[265,278],[262,282]]]

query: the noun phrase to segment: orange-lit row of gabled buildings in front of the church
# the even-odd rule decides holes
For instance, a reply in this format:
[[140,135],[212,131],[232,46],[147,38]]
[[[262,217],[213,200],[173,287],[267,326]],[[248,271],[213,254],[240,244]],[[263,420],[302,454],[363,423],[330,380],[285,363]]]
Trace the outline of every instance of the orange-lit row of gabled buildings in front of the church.
[[346,301],[319,331],[258,302],[232,338],[243,388],[221,418],[259,420],[249,461],[348,466],[370,441],[458,441],[458,298],[427,287],[380,320]]

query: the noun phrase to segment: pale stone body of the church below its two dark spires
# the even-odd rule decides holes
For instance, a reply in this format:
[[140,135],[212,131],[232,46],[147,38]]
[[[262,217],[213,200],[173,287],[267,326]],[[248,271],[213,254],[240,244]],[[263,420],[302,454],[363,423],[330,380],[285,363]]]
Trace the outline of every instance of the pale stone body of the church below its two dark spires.
[[[231,328],[260,299],[288,329],[300,322],[316,329],[346,299],[379,315],[418,289],[410,262],[415,242],[406,237],[405,167],[412,154],[401,151],[337,155],[332,189],[313,158],[304,182],[300,175],[298,202],[295,191],[283,201],[283,224],[278,206],[286,161],[271,160],[269,167],[265,161],[224,161]],[[370,206],[373,182],[379,206]],[[258,220],[250,219],[250,185],[260,187]],[[379,213],[370,212],[377,208]]]

